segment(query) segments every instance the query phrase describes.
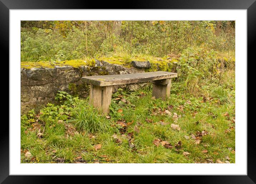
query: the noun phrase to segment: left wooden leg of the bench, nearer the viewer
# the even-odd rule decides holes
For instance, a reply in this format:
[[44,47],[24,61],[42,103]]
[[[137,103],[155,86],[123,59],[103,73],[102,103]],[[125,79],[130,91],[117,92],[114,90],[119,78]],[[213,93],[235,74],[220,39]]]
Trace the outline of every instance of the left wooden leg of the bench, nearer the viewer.
[[111,103],[113,86],[95,86],[90,87],[90,104],[98,108],[100,112],[108,114]]

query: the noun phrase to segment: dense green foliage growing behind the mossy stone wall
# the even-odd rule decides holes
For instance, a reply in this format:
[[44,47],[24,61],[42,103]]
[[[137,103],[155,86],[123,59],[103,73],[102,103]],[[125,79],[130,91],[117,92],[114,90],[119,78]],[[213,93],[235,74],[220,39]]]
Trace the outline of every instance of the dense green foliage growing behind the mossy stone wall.
[[234,21],[21,21],[21,61],[138,54],[178,57],[193,46],[235,48]]

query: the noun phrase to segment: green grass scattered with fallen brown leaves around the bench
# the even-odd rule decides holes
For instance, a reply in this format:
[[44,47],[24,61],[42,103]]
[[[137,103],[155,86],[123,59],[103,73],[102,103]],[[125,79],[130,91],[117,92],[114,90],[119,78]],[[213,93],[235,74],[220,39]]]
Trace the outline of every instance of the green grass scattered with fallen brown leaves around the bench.
[[[234,78],[229,85],[202,89],[207,91],[205,99],[177,92],[178,82],[172,85],[166,101],[152,99],[150,84],[136,92],[118,90],[112,95],[109,116],[98,115],[88,98],[77,97],[22,116],[21,163],[30,159],[36,163],[75,163],[79,159],[85,163],[235,163]],[[127,126],[120,126],[120,120]],[[196,144],[191,134],[203,131],[208,134]],[[128,133],[133,133],[132,137],[127,138]],[[156,139],[168,141],[172,148],[153,144]],[[95,149],[98,144],[101,148]]]

